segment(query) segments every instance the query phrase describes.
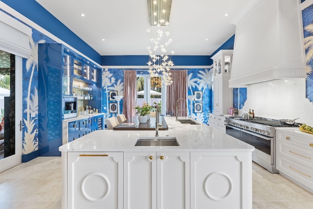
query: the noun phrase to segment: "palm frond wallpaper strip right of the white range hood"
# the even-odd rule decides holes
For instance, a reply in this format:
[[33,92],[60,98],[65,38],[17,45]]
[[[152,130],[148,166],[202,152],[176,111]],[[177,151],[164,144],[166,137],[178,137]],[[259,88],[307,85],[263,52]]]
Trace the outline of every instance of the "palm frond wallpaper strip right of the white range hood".
[[[304,27],[304,30],[308,31],[309,33],[313,33],[313,23],[308,24]],[[306,61],[307,61],[307,80],[311,76],[313,72],[313,67],[310,65],[310,62],[313,60],[313,35],[304,38],[304,47],[308,49],[306,53]]]

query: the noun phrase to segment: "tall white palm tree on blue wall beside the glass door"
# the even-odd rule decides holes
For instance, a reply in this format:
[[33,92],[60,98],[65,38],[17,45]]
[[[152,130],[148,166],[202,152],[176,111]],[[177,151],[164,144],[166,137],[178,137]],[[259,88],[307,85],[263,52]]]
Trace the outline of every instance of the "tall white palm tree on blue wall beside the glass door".
[[35,88],[34,93],[31,94],[30,90],[34,71],[38,70],[38,44],[41,43],[45,43],[45,41],[40,40],[38,41],[38,43],[35,43],[33,39],[29,39],[29,47],[31,53],[26,61],[26,71],[28,72],[31,69],[31,73],[26,98],[27,107],[24,111],[26,113],[26,118],[23,118],[24,125],[26,127],[24,131],[24,140],[22,147],[23,154],[28,154],[38,149],[38,140],[35,139],[35,136],[38,133],[38,129],[35,126],[35,119],[37,119],[37,117],[30,118],[30,114],[32,112],[38,113],[38,91]]

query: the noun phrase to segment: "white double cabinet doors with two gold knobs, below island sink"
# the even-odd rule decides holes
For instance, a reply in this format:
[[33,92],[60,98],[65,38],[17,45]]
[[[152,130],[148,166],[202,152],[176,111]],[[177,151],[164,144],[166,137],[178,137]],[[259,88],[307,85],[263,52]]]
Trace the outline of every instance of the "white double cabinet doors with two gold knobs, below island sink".
[[125,152],[125,209],[189,209],[189,162],[189,152]]

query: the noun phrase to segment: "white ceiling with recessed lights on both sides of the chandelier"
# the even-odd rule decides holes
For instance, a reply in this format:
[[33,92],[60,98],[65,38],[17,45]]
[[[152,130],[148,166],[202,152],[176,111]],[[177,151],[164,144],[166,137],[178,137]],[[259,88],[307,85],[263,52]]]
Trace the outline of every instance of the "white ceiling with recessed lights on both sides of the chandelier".
[[[100,55],[148,55],[148,0],[36,1]],[[172,0],[174,55],[211,55],[234,35],[230,21],[248,1]]]

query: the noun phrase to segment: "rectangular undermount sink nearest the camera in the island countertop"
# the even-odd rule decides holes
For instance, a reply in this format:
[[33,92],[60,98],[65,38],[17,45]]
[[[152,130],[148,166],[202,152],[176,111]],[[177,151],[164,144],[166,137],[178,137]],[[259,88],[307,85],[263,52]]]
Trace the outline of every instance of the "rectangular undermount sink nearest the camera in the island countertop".
[[179,146],[176,137],[142,137],[135,146]]

